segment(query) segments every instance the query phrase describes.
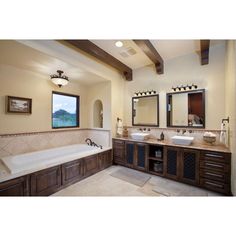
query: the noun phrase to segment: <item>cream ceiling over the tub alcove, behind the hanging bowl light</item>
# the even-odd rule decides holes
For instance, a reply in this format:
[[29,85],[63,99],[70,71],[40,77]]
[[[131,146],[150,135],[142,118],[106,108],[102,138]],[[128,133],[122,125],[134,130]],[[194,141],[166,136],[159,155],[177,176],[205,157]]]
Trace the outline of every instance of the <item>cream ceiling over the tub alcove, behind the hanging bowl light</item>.
[[81,70],[62,60],[46,55],[31,47],[14,40],[0,41],[0,63],[39,73],[50,79],[51,74],[63,70],[69,80],[84,85],[91,85],[106,81],[91,72]]

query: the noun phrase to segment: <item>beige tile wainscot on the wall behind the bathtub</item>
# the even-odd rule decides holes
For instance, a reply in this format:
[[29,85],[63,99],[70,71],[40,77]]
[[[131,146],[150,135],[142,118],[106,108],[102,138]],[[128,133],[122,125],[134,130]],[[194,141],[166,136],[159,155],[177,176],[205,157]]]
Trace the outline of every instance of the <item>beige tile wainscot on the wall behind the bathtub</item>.
[[104,129],[63,129],[0,135],[0,158],[66,145],[84,143],[90,137],[104,147],[111,146],[111,132]]

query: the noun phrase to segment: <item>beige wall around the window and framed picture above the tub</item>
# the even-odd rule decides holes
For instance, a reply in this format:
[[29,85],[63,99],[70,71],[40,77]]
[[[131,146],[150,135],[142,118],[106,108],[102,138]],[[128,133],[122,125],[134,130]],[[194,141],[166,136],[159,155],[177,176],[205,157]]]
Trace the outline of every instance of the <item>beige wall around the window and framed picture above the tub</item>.
[[[59,89],[48,77],[0,65],[0,134],[51,130],[51,95],[60,91],[80,96],[80,127],[87,127],[86,87],[70,82]],[[32,114],[6,114],[5,96],[32,98]]]

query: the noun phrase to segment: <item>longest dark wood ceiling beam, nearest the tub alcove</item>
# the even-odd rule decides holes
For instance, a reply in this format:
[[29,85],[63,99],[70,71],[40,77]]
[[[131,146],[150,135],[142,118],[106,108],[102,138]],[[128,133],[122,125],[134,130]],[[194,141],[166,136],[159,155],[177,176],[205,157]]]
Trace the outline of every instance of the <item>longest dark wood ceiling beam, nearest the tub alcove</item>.
[[126,66],[124,63],[98,47],[96,44],[89,40],[64,40],[66,43],[76,47],[77,49],[86,52],[87,54],[97,58],[98,60],[104,62],[117,69],[125,76],[126,80],[132,80],[132,69]]

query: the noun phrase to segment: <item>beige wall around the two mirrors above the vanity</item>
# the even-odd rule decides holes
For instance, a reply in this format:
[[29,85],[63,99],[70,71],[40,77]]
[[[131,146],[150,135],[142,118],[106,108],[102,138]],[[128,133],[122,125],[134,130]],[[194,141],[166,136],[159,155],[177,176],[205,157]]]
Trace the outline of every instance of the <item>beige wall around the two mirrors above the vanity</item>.
[[[153,66],[133,71],[133,81],[125,82],[125,123],[132,124],[131,98],[134,92],[155,89],[160,100],[160,127],[166,127],[166,93],[172,86],[195,83],[206,89],[206,128],[219,129],[225,116],[225,46],[210,48],[209,65],[201,66],[197,53],[165,61],[163,75]],[[216,106],[217,105],[217,109]]]

